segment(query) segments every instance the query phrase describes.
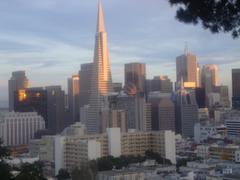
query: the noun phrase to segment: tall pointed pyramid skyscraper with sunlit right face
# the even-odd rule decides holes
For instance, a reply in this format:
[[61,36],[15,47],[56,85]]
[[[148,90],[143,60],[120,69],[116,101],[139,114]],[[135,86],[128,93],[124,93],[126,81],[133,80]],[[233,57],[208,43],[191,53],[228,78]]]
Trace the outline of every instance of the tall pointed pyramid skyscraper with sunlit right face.
[[101,107],[104,106],[103,99],[110,92],[112,92],[112,77],[107,46],[107,33],[105,31],[102,3],[99,1],[94,62],[91,74],[90,107],[86,124],[89,133],[99,132],[99,115]]

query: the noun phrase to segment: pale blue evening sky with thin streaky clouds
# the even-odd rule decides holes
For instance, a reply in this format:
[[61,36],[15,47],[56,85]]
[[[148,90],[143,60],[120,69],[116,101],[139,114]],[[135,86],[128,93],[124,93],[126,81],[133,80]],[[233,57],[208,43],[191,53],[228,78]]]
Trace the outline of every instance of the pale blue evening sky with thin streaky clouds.
[[[240,68],[240,41],[175,19],[168,0],[102,0],[114,82],[124,64],[143,62],[147,77],[175,81],[175,61],[188,44],[198,62],[217,64],[221,84],[231,86]],[[25,70],[32,87],[62,85],[93,61],[97,0],[0,0],[0,102],[8,99],[11,73]]]

